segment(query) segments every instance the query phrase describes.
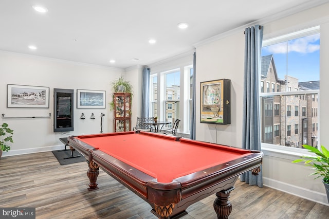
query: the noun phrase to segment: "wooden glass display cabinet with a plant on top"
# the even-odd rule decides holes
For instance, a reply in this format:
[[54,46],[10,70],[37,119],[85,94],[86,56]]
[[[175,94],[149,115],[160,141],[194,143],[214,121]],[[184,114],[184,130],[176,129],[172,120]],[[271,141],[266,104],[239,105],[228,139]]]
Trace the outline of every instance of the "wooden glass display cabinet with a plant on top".
[[114,93],[114,132],[131,131],[131,93]]

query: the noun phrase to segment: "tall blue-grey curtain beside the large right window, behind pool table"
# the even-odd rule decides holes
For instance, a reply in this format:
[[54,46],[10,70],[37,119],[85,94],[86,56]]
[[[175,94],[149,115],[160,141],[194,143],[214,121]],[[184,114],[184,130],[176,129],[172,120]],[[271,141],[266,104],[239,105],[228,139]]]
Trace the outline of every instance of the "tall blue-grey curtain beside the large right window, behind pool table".
[[[245,63],[243,95],[242,147],[261,151],[259,81],[261,75],[263,26],[255,25],[245,30]],[[262,170],[262,168],[261,168]],[[251,171],[240,176],[250,186],[263,187],[262,171]]]

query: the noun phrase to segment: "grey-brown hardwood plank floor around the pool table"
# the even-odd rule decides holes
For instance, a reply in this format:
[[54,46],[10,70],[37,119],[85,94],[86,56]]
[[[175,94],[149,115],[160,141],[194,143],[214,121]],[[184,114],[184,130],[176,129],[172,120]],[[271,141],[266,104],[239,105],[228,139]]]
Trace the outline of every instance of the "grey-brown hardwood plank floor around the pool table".
[[[149,204],[100,170],[88,192],[85,162],[61,166],[51,152],[0,159],[0,207],[35,207],[36,218],[156,218]],[[215,196],[190,206],[182,219],[216,218]],[[237,181],[229,218],[329,218],[329,207]]]

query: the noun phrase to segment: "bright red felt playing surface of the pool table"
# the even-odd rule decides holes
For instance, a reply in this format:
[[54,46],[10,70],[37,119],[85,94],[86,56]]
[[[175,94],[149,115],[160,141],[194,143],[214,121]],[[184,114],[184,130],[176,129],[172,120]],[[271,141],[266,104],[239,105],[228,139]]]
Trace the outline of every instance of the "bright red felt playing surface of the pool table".
[[160,136],[154,133],[126,132],[77,137],[132,167],[147,173],[158,182],[173,179],[244,157],[250,153],[237,148],[206,142]]

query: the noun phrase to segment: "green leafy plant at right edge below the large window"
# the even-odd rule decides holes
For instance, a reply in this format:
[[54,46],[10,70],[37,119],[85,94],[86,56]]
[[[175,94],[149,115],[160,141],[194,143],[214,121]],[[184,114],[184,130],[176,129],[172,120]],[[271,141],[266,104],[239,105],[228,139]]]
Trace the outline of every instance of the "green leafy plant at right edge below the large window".
[[293,163],[304,162],[306,166],[312,167],[314,172],[310,175],[316,175],[316,178],[322,177],[327,199],[329,202],[329,151],[321,145],[321,151],[310,145],[304,144],[303,147],[315,156],[301,156],[302,159],[296,159]]

